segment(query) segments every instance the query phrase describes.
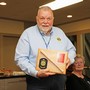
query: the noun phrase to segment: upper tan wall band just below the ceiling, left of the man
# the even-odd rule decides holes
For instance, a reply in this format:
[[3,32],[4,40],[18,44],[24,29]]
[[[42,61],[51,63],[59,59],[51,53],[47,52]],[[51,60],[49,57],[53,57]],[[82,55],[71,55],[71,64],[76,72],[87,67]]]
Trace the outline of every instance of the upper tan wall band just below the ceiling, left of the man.
[[24,22],[0,19],[0,33],[21,34],[24,30]]

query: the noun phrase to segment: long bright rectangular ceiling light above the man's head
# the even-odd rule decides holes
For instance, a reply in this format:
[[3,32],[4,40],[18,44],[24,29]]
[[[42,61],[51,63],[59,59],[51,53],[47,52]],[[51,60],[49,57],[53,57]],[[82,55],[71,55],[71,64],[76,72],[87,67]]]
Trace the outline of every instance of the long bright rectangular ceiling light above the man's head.
[[[48,4],[42,5],[42,6],[49,6],[52,10],[60,9],[66,6],[70,6],[79,2],[82,2],[83,0],[55,0],[53,2],[50,2]],[[40,7],[42,7],[40,6]]]

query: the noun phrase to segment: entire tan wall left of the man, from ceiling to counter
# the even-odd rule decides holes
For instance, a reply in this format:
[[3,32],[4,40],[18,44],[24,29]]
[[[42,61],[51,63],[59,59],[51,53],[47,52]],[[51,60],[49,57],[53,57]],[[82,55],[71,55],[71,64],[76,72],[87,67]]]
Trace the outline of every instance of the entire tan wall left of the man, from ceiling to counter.
[[14,62],[15,47],[24,22],[0,19],[0,68],[19,70]]

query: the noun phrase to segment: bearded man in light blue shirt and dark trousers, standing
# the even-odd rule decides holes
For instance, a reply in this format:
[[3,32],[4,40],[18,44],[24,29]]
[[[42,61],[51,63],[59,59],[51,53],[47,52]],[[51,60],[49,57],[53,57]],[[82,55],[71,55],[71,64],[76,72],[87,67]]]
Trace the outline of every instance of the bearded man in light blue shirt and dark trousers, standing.
[[51,8],[39,8],[36,21],[37,25],[26,29],[21,35],[15,61],[27,74],[27,90],[64,90],[65,75],[35,69],[38,49],[67,51],[67,68],[74,61],[76,49],[61,29],[53,27],[54,15]]

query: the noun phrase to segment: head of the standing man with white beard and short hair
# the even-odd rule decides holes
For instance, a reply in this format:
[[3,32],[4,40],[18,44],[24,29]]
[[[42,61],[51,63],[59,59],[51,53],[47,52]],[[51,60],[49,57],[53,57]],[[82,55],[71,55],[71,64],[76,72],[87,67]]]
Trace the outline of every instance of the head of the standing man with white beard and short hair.
[[53,25],[53,12],[50,7],[44,6],[39,8],[36,21],[39,29],[44,33],[50,32]]

